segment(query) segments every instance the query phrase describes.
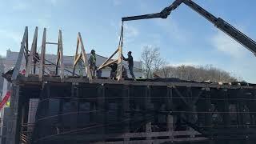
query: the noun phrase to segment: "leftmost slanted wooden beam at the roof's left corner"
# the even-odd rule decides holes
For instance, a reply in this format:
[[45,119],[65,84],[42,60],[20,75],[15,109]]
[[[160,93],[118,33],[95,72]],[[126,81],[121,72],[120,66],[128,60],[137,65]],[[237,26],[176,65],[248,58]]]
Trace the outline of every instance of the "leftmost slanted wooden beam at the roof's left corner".
[[24,52],[24,49],[25,49],[25,46],[26,46],[27,38],[28,38],[28,27],[26,26],[25,32],[23,34],[22,43],[21,43],[21,47],[20,47],[20,50],[19,50],[18,58],[17,58],[17,61],[15,63],[14,73],[13,73],[12,78],[11,78],[12,81],[16,80],[16,78],[18,76],[18,73],[19,73],[19,69],[21,68],[23,52]]

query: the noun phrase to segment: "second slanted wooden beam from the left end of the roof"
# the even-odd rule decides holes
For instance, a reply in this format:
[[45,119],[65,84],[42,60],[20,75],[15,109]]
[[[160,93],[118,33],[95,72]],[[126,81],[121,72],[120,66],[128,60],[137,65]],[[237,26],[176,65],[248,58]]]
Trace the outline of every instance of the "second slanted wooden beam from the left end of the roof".
[[35,27],[35,30],[34,30],[34,38],[33,38],[32,46],[30,49],[30,56],[28,58],[27,65],[26,65],[26,74],[25,74],[26,77],[30,74],[30,71],[31,71],[31,65],[33,63],[34,54],[36,53],[36,49],[38,46],[37,43],[38,43],[38,26]]

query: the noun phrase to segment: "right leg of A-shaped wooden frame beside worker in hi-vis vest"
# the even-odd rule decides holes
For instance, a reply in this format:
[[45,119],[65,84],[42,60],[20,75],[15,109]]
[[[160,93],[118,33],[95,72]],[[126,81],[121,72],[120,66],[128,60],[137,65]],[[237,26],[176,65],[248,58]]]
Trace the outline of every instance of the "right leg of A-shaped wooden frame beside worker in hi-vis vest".
[[82,37],[81,37],[80,32],[78,33],[78,40],[79,40],[79,43],[81,45],[82,59],[83,59],[84,65],[85,65],[87,78],[89,78],[89,81],[92,82],[93,78],[92,78],[92,75],[91,75],[91,72],[90,72],[90,68],[89,68],[89,64],[88,64],[87,56],[86,56],[86,50],[85,50],[85,47],[83,46]]

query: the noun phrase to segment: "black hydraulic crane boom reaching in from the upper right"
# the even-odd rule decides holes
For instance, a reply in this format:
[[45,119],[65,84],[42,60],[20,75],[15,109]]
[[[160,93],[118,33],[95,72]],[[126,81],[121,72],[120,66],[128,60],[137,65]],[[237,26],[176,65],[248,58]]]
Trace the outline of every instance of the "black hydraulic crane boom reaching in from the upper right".
[[208,21],[212,22],[214,26],[217,26],[219,30],[222,30],[224,33],[228,34],[231,38],[234,38],[234,40],[241,43],[242,46],[245,46],[254,55],[256,55],[256,42],[254,42],[253,39],[249,38],[246,36],[246,34],[243,34],[241,31],[234,28],[234,26],[231,26],[222,18],[216,18],[213,14],[210,14],[207,10],[204,10],[201,6],[198,6],[198,4],[192,0],[175,0],[170,6],[163,9],[160,13],[125,17],[122,18],[122,22],[149,18],[167,18],[171,11],[175,10],[182,3],[198,12],[198,14],[201,14]]

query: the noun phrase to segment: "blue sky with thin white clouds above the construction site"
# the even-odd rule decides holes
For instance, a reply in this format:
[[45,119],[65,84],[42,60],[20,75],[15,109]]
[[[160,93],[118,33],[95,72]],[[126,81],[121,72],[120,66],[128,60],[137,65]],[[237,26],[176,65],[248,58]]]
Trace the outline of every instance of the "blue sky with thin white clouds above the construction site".
[[[30,41],[34,27],[47,28],[47,42],[57,42],[62,30],[64,54],[73,55],[78,32],[86,51],[109,56],[118,46],[121,18],[155,13],[174,0],[2,0],[0,5],[0,54],[18,51],[25,26],[29,26]],[[194,0],[216,17],[221,17],[256,38],[256,1],[254,0]],[[247,82],[256,83],[256,58],[249,50],[227,37],[199,14],[182,5],[167,19],[150,19],[125,23],[124,53],[131,50],[140,60],[144,46],[158,47],[170,65],[213,65],[229,71]],[[57,47],[46,47],[54,54]]]

